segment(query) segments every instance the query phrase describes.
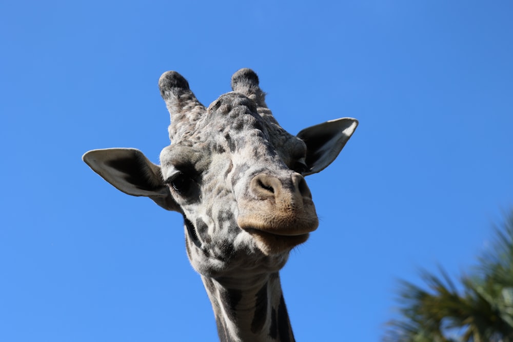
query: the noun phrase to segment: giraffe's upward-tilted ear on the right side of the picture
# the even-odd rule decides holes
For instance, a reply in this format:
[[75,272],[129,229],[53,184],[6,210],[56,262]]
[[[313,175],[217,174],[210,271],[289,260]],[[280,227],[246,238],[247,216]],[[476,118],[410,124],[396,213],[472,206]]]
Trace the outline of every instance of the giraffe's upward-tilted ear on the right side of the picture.
[[309,169],[303,175],[320,172],[330,165],[342,151],[357,126],[357,119],[343,117],[299,132],[298,138],[306,144],[306,165]]

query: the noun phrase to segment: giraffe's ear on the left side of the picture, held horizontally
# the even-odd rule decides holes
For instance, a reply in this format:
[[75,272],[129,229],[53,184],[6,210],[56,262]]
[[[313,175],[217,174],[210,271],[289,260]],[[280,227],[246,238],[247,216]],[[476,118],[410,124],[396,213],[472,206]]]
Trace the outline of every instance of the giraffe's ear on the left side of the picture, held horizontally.
[[149,197],[164,209],[181,212],[162,181],[160,166],[151,163],[143,152],[128,148],[92,150],[82,160],[116,189]]

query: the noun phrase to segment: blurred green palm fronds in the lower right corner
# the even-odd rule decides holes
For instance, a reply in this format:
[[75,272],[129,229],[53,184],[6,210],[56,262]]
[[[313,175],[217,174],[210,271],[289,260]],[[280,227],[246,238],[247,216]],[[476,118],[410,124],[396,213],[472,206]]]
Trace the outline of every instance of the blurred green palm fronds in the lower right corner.
[[422,272],[425,288],[401,281],[400,318],[384,342],[513,342],[513,211],[495,228],[492,248],[478,258],[459,289],[440,269]]

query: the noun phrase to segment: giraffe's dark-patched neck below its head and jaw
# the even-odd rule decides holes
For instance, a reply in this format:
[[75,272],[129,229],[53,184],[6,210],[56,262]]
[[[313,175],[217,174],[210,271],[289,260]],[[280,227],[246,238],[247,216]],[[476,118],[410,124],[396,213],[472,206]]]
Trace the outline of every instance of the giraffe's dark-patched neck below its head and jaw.
[[249,279],[202,276],[202,280],[222,342],[294,341],[278,272]]

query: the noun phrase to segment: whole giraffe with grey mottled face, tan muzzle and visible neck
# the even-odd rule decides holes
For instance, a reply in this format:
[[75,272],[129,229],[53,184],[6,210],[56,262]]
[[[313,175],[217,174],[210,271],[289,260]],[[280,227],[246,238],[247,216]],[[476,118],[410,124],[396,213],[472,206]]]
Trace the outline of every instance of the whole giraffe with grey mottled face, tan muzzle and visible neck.
[[285,131],[259,78],[241,69],[208,108],[186,79],[165,72],[171,116],[160,166],[136,149],[92,150],[83,160],[115,188],[183,215],[189,261],[202,278],[221,341],[293,341],[280,283],[289,252],[318,227],[304,176],[338,156],[358,121]]

